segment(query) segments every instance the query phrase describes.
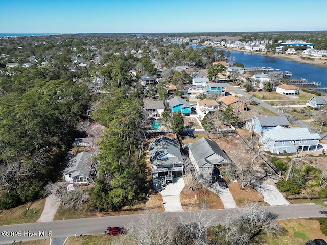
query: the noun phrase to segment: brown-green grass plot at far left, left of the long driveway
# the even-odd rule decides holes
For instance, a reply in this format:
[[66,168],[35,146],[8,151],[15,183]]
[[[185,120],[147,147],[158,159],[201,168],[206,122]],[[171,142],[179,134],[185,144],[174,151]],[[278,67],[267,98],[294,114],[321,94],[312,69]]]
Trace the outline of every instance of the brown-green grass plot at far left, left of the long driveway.
[[0,210],[0,225],[36,222],[41,216],[44,204],[45,198],[12,209]]

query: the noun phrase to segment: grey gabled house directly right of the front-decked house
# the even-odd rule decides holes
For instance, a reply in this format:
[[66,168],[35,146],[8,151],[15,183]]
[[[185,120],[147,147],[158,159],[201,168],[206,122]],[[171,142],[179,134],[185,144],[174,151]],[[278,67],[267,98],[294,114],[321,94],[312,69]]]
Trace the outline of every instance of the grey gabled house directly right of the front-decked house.
[[211,180],[213,169],[230,161],[219,145],[205,137],[189,146],[189,157],[198,174],[202,174],[207,180]]

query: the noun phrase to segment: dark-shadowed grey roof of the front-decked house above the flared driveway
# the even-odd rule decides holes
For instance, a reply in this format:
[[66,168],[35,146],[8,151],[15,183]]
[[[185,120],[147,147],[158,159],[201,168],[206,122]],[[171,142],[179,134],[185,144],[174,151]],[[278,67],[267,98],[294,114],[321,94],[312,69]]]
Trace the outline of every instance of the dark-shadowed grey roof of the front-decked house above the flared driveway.
[[149,154],[151,165],[183,162],[177,143],[165,136],[161,136],[149,144]]

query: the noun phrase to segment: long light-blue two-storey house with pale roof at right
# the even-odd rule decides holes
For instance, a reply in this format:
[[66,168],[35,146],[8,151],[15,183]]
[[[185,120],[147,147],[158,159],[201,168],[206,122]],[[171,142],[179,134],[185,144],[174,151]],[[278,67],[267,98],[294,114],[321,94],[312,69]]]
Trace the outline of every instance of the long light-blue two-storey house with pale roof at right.
[[307,128],[282,128],[262,131],[260,142],[271,153],[294,153],[303,151],[316,151],[320,136],[310,133]]

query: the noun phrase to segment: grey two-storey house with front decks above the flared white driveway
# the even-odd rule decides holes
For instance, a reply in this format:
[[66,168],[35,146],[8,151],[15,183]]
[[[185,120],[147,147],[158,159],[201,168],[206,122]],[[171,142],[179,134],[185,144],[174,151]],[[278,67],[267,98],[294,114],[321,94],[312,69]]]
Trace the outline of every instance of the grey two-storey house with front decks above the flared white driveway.
[[151,172],[165,177],[173,182],[173,176],[180,176],[183,172],[183,157],[177,143],[161,136],[149,144]]

